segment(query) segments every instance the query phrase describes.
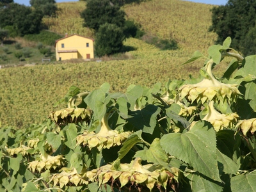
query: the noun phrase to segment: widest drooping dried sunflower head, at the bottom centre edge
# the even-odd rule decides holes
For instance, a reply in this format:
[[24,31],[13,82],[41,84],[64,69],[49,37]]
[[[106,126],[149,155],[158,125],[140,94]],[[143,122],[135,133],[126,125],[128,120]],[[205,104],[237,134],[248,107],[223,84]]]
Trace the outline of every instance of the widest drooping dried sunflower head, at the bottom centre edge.
[[154,187],[167,189],[168,184],[175,185],[174,175],[177,170],[173,169],[172,173],[154,164],[141,165],[141,161],[137,157],[131,164],[120,164],[120,170],[114,170],[110,164],[101,166],[94,178],[99,181],[99,185],[110,183],[113,186],[116,183],[120,188],[136,186],[138,191],[146,188],[152,191]]

